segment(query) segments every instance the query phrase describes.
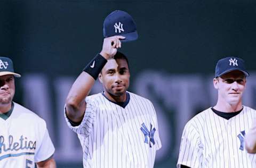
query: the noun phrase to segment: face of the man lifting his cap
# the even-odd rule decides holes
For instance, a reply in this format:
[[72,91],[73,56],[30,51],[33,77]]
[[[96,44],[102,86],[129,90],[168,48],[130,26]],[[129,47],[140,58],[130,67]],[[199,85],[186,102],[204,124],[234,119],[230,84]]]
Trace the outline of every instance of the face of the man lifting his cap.
[[130,72],[124,59],[108,60],[103,67],[99,79],[108,94],[122,96],[130,84]]

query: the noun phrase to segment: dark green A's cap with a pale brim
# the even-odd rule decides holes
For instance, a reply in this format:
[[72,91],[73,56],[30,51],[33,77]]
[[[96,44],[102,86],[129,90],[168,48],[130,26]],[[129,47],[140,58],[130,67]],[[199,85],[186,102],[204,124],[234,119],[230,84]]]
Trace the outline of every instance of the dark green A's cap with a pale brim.
[[13,74],[14,77],[21,77],[20,74],[14,72],[12,60],[8,57],[0,57],[0,76]]

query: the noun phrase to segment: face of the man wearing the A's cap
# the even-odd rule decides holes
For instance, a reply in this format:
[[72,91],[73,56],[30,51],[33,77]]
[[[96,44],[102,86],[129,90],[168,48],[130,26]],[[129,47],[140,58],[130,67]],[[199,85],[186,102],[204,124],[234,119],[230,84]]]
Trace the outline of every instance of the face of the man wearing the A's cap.
[[13,75],[3,75],[0,77],[0,105],[10,104],[15,93]]

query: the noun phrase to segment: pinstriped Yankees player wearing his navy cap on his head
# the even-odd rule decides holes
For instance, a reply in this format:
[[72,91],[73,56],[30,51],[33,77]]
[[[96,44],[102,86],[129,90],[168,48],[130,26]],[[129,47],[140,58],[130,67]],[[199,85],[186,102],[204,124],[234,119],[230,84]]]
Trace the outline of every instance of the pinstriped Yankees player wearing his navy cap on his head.
[[215,68],[218,101],[185,126],[177,167],[256,167],[256,156],[244,148],[256,111],[242,105],[246,86],[244,61],[226,57]]

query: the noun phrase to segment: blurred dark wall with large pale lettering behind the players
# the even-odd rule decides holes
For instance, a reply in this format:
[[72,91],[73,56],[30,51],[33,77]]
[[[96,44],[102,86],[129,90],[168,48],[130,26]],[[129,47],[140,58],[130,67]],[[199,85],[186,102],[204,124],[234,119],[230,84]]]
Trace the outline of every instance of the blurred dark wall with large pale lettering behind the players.
[[[82,147],[63,117],[68,90],[100,52],[102,23],[114,10],[137,23],[139,39],[122,45],[130,91],[155,105],[162,149],[155,167],[175,167],[185,123],[213,106],[217,60],[239,56],[251,72],[245,105],[256,107],[256,2],[161,0],[1,0],[0,54],[15,70],[15,102],[43,117],[58,167],[82,167]],[[92,93],[101,91],[97,82]]]

